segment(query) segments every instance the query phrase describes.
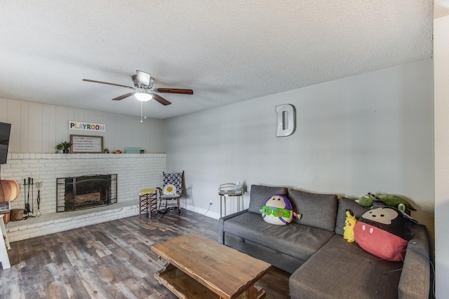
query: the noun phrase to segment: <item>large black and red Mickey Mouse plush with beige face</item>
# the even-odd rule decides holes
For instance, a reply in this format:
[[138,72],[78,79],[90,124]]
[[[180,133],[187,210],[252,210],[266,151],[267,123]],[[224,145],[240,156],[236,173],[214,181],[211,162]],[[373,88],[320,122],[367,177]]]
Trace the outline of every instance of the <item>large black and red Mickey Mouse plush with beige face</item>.
[[356,223],[354,235],[361,248],[385,260],[399,261],[413,237],[413,218],[394,207],[370,209]]

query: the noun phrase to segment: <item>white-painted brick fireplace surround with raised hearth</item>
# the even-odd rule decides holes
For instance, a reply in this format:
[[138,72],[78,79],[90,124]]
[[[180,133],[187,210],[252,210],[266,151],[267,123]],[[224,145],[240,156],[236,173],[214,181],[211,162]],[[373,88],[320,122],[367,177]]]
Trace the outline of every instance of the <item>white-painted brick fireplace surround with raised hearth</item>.
[[[53,232],[70,230],[95,223],[137,215],[138,191],[161,186],[162,172],[166,170],[165,153],[143,154],[58,154],[58,153],[13,153],[8,154],[8,163],[1,165],[1,179],[20,183],[20,195],[11,202],[12,209],[23,209],[28,187],[24,179],[42,182],[41,216],[26,220],[10,221],[8,236],[11,242]],[[56,213],[56,179],[86,174],[117,174],[116,204],[82,211]],[[34,186],[34,216],[37,209],[37,188]]]

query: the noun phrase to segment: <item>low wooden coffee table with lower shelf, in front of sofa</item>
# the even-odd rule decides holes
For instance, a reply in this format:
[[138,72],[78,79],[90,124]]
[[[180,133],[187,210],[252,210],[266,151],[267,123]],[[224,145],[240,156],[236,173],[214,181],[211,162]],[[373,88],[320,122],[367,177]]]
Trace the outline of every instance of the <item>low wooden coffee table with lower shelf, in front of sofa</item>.
[[254,284],[272,267],[191,232],[152,246],[168,261],[154,277],[178,298],[264,298]]

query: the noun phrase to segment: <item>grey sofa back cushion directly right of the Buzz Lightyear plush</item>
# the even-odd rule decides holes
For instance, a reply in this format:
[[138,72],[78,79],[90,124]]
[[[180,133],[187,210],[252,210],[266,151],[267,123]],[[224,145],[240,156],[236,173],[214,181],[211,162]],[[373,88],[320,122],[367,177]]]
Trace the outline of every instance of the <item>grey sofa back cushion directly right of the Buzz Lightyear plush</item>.
[[301,214],[300,220],[293,219],[293,221],[332,232],[335,230],[337,195],[288,190],[288,198],[293,211]]

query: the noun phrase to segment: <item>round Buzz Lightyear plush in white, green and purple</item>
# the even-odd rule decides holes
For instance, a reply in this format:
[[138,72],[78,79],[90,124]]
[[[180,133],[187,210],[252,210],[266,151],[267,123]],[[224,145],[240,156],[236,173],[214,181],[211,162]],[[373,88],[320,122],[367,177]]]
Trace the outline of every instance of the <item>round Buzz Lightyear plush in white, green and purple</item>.
[[300,219],[301,215],[293,211],[290,200],[284,195],[273,195],[265,201],[265,205],[259,210],[264,221],[276,225],[286,225],[293,217]]

